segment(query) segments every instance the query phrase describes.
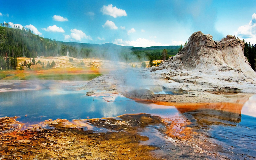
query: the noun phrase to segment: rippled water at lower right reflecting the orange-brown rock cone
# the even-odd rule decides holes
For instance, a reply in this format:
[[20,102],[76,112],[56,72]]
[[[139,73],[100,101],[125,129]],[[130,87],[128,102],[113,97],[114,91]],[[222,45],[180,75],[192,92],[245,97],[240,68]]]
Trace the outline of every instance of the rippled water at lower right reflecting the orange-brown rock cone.
[[236,103],[177,109],[192,122],[190,127],[208,134],[223,146],[225,156],[231,159],[256,158],[256,95],[238,99]]

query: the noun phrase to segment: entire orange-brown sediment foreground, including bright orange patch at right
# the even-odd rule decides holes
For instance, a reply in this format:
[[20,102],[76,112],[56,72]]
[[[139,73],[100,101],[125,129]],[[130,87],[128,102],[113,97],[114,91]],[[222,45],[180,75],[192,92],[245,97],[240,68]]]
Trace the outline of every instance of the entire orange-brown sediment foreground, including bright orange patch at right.
[[[8,118],[8,117],[7,117]],[[16,121],[17,122],[17,121]],[[5,123],[5,122],[3,122]],[[8,123],[8,122],[7,122]],[[2,132],[0,134],[0,158],[14,159],[181,159],[180,152],[200,157],[210,157],[221,150],[220,146],[207,141],[207,137],[193,132],[187,125],[190,122],[185,117],[162,119],[149,114],[121,115],[114,118],[97,118],[72,120],[47,120],[41,125],[48,125],[53,129],[43,129],[40,124],[36,127],[21,131]],[[166,143],[174,147],[168,153],[156,154],[160,147],[145,145],[147,136],[139,132],[149,126],[163,126],[158,131],[167,139],[175,141]],[[87,127],[88,130],[85,130]],[[102,132],[93,130],[104,128]],[[147,131],[147,130],[145,130]],[[164,145],[164,144],[160,144]],[[189,150],[188,150],[189,149]],[[163,151],[163,150],[162,150]],[[190,154],[188,152],[192,151]],[[175,155],[173,155],[175,154]],[[184,157],[185,158],[185,157]]]

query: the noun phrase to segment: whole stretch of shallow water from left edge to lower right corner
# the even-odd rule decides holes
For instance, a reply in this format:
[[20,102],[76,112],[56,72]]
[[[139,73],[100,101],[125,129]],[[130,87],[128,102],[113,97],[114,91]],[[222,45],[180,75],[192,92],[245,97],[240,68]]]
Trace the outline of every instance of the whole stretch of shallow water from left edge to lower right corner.
[[[0,117],[20,116],[17,120],[24,124],[37,124],[48,119],[87,119],[115,117],[123,114],[147,113],[162,117],[183,116],[189,119],[196,132],[203,132],[223,147],[221,155],[231,159],[256,157],[256,95],[250,97],[244,105],[234,110],[220,104],[199,107],[195,110],[174,106],[161,106],[150,102],[136,102],[121,95],[86,96],[85,90],[67,91],[50,88],[36,91],[17,91],[0,93]],[[239,100],[237,100],[239,102]],[[190,106],[191,107],[191,106]],[[230,106],[229,106],[230,107]],[[232,106],[231,106],[232,107]],[[164,140],[157,129],[161,126],[149,126],[141,131],[149,137],[143,144],[160,147],[156,154],[176,155],[175,146]],[[152,135],[152,136],[150,136]],[[163,147],[161,147],[163,146]],[[173,150],[173,151],[171,151]],[[192,151],[191,151],[192,152]],[[171,154],[172,153],[172,154]],[[189,152],[190,153],[190,152]],[[187,157],[195,157],[189,154]],[[250,157],[252,156],[252,157]],[[200,158],[199,158],[200,159]]]

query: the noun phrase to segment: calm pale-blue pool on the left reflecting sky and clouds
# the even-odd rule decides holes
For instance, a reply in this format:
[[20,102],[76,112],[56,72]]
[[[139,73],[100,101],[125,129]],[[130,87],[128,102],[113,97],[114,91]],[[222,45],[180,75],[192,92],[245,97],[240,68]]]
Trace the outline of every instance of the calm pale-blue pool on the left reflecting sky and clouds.
[[39,90],[0,93],[0,117],[20,116],[18,121],[30,124],[57,118],[72,120],[137,113],[163,116],[179,113],[174,107],[155,109],[150,107],[151,105],[137,103],[121,95],[86,96],[86,91]]

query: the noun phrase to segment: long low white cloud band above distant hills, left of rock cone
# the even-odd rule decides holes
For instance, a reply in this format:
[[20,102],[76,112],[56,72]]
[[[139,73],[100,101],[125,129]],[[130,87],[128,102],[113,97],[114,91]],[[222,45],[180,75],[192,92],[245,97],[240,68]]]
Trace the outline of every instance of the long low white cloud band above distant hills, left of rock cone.
[[180,45],[185,44],[183,41],[172,41],[171,44],[162,44],[160,42],[151,41],[145,38],[138,38],[135,41],[123,41],[122,39],[115,39],[113,44],[133,47],[151,47],[151,46],[167,46],[167,45]]

